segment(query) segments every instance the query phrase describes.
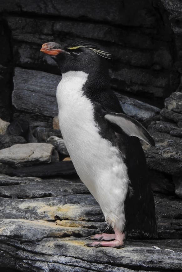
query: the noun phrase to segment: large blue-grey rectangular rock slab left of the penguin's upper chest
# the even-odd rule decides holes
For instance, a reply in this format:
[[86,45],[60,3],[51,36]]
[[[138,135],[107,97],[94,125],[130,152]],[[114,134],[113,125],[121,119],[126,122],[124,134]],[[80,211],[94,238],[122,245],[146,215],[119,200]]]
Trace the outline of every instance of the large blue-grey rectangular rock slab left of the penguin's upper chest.
[[13,105],[34,115],[54,117],[58,114],[56,88],[60,79],[45,72],[15,68]]

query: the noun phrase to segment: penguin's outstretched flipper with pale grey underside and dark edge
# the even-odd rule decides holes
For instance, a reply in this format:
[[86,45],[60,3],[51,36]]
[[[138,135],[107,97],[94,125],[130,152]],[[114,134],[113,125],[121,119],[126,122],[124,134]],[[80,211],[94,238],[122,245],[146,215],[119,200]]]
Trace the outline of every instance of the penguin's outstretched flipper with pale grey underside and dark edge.
[[127,135],[138,137],[152,146],[155,145],[154,139],[151,137],[146,128],[128,115],[123,113],[107,113],[105,114],[104,118],[110,123],[117,125],[117,127],[121,128]]

